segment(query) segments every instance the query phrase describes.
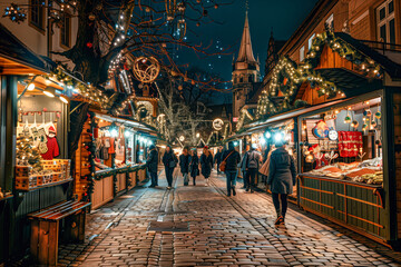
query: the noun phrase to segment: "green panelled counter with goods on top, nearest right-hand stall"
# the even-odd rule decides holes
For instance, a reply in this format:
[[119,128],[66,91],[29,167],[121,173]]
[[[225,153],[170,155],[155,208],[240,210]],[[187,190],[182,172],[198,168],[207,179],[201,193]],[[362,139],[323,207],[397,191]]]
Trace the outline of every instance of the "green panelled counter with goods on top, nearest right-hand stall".
[[385,238],[383,172],[380,167],[338,164],[300,175],[300,206],[340,225]]

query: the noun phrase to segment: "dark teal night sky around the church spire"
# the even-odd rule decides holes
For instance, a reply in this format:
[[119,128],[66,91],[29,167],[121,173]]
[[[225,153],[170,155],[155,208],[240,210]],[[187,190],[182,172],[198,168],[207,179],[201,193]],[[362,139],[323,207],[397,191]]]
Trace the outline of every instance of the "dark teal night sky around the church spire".
[[[189,24],[188,27],[198,37],[187,32],[187,41],[202,41],[205,46],[213,41],[214,51],[219,50],[222,47],[232,47],[229,52],[235,52],[237,56],[245,20],[245,0],[233,1],[233,4],[209,10],[211,17],[223,24],[208,23],[200,24],[200,27]],[[272,27],[276,40],[288,39],[316,2],[317,0],[248,0],[253,51],[255,58],[260,56],[262,73],[264,73],[264,61]],[[182,63],[189,62],[217,72],[223,80],[231,80],[233,55],[221,56],[221,58],[218,56],[199,57],[196,57],[193,52],[180,51],[177,60]]]

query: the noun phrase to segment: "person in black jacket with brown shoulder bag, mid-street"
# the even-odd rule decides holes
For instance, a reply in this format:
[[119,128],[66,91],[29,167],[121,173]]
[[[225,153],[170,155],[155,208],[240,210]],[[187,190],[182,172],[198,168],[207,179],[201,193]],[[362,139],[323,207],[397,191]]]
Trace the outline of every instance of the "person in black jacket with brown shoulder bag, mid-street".
[[225,164],[225,175],[227,179],[227,196],[231,197],[233,191],[233,196],[236,195],[235,186],[236,186],[236,177],[238,174],[237,166],[239,162],[239,152],[237,152],[234,148],[234,142],[228,142],[228,150],[224,151],[222,162]]

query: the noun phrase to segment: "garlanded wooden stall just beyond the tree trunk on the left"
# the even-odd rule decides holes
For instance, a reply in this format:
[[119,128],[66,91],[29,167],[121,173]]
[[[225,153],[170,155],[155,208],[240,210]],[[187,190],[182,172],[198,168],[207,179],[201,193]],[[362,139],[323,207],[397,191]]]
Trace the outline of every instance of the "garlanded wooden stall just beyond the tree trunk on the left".
[[96,209],[145,181],[156,140],[156,131],[137,121],[90,111],[75,155],[75,194]]

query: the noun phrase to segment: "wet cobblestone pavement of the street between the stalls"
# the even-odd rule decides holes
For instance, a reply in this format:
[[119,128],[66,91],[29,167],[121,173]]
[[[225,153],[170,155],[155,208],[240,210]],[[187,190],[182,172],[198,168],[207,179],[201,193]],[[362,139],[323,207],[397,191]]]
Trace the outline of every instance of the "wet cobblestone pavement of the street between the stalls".
[[[177,176],[177,174],[175,174]],[[88,215],[87,240],[61,246],[61,266],[401,266],[401,254],[291,206],[274,227],[268,195],[226,197],[214,174],[206,187],[136,188]],[[164,221],[189,229],[149,230]]]

